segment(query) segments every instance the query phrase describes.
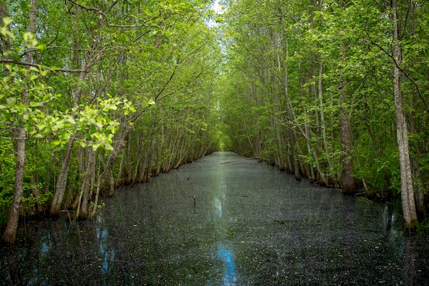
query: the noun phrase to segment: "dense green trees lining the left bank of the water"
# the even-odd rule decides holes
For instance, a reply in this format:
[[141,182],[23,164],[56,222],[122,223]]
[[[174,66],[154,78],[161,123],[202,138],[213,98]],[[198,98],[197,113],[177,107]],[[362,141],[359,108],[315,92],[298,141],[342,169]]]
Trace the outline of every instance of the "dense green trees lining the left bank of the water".
[[209,5],[0,2],[3,239],[19,214],[92,217],[100,192],[217,149]]

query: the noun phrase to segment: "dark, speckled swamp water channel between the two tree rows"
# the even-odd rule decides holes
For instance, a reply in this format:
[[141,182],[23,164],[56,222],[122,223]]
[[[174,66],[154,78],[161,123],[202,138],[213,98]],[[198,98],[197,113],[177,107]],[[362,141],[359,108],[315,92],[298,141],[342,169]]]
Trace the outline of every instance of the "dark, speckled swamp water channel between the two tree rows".
[[400,214],[231,152],[104,202],[94,221],[23,224],[0,284],[429,285],[429,239]]

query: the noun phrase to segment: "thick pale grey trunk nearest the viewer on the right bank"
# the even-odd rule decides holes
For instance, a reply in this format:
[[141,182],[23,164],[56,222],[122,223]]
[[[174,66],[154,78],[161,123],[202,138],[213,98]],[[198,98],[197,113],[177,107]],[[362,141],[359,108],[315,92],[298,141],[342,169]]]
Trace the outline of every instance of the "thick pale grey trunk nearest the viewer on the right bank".
[[413,229],[419,222],[417,220],[417,211],[415,207],[415,198],[413,191],[413,178],[411,176],[411,163],[408,151],[408,129],[404,111],[402,108],[401,92],[401,71],[402,61],[401,47],[399,43],[399,27],[397,23],[397,5],[396,0],[391,0],[391,19],[393,23],[393,93],[395,95],[395,115],[396,115],[396,136],[397,147],[400,156],[401,172],[401,201],[402,213],[404,215],[404,224],[406,228]]

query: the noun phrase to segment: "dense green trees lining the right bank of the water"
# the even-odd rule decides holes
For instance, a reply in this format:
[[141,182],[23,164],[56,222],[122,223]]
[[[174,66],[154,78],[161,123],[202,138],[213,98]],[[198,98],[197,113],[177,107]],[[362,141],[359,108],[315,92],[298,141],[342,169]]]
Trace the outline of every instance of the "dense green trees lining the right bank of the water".
[[401,193],[406,225],[415,204],[424,219],[428,3],[228,3],[221,110],[232,148],[347,193]]

